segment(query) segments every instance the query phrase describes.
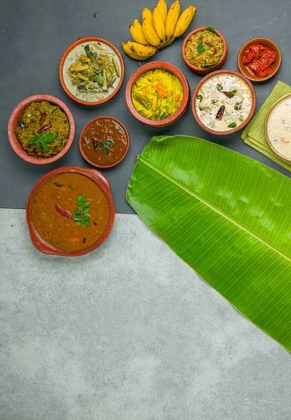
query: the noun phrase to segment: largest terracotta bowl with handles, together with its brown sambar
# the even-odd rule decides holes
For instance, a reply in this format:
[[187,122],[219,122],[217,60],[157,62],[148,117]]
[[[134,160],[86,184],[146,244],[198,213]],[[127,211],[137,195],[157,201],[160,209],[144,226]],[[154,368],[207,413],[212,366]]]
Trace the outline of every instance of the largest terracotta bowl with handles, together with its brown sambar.
[[47,254],[94,251],[111,232],[114,217],[110,184],[96,169],[55,169],[36,183],[27,201],[31,241]]

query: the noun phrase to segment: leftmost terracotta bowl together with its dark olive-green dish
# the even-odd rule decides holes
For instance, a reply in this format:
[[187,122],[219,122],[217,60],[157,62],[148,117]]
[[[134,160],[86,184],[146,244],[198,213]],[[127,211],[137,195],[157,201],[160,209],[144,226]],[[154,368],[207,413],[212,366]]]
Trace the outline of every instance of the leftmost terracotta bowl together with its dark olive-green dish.
[[[36,109],[38,103],[39,111]],[[29,114],[29,106],[33,109],[32,114]],[[41,134],[45,134],[43,142],[37,143]],[[57,136],[51,141],[48,134]],[[35,165],[46,165],[62,158],[69,151],[74,135],[75,123],[71,111],[64,102],[48,94],[36,94],[24,99],[15,107],[8,122],[8,139],[13,151],[23,160]],[[35,137],[33,143],[30,142],[32,137]],[[22,148],[20,140],[27,150]]]

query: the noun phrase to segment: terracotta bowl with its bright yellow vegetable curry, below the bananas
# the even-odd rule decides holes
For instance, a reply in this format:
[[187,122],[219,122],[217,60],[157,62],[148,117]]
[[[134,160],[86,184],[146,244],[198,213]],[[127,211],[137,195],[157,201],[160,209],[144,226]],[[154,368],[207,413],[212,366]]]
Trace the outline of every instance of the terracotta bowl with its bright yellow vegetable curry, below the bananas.
[[173,64],[150,62],[129,78],[125,100],[136,120],[151,127],[166,127],[176,123],[187,111],[190,87]]

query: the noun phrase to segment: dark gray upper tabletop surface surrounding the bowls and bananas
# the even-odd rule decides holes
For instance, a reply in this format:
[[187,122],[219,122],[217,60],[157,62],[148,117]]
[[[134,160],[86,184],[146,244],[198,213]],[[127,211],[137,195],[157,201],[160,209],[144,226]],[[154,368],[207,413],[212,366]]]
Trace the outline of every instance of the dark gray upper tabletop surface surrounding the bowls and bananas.
[[[170,1],[167,1],[168,5]],[[290,84],[290,0],[196,1],[182,0],[182,8],[190,3],[197,7],[188,31],[212,26],[224,34],[229,56],[224,69],[237,70],[236,57],[241,45],[250,38],[266,36],[278,43],[283,60],[281,69],[267,83],[255,84],[257,110],[260,108],[277,80]],[[156,0],[6,0],[1,1],[1,78],[0,78],[0,207],[22,208],[34,183],[45,173],[62,166],[89,167],[78,149],[78,137],[87,121],[96,116],[113,116],[125,124],[129,131],[130,147],[125,160],[115,168],[104,170],[111,183],[116,211],[133,213],[125,200],[125,191],[134,168],[135,157],[155,134],[187,134],[208,139],[239,151],[265,165],[290,176],[290,173],[253,150],[240,139],[240,132],[225,137],[215,137],[204,132],[194,121],[191,108],[171,127],[154,129],[142,125],[132,117],[125,104],[127,80],[138,63],[125,57],[125,80],[118,94],[108,103],[97,106],[80,106],[73,102],[59,84],[59,60],[66,48],[78,38],[101,36],[122,52],[121,41],[129,38],[129,25],[141,18],[143,7],[153,8]],[[191,91],[201,76],[187,69],[181,55],[183,36],[173,45],[159,52],[154,59],[171,62],[183,71]],[[123,52],[122,52],[123,53]],[[62,99],[71,109],[76,123],[73,145],[64,158],[51,165],[31,165],[14,153],[8,143],[7,124],[10,113],[24,98],[33,94],[52,94]]]

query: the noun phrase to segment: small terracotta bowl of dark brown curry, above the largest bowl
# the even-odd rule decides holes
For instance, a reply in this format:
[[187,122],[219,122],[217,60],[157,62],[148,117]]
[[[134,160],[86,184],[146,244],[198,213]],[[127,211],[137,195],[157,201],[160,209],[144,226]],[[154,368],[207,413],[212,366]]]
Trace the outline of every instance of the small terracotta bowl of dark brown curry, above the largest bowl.
[[80,153],[94,167],[110,168],[125,158],[129,134],[125,126],[112,117],[97,117],[83,128]]

